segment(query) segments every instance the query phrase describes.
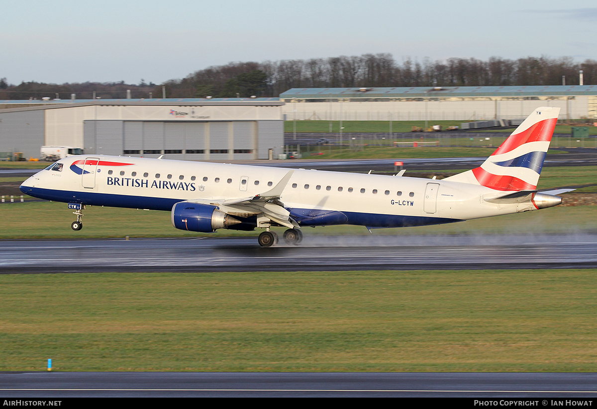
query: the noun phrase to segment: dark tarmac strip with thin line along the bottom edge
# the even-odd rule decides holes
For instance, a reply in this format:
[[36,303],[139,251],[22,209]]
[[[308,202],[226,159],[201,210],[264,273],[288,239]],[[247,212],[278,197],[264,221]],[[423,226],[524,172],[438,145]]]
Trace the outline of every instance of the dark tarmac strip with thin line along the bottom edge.
[[597,397],[594,373],[0,373],[4,398],[69,396]]

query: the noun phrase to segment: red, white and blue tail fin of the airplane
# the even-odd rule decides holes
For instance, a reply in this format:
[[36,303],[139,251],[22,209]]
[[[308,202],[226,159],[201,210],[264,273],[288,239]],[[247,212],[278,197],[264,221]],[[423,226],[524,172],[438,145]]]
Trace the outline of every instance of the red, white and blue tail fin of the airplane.
[[495,190],[534,190],[558,121],[559,108],[539,107],[479,168],[445,178]]

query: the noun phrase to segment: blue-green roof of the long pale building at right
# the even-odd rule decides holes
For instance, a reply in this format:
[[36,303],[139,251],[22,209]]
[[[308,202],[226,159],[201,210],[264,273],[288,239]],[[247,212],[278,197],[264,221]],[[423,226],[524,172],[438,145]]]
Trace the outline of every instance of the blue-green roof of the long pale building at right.
[[292,88],[282,92],[280,98],[531,97],[541,95],[597,95],[597,85]]

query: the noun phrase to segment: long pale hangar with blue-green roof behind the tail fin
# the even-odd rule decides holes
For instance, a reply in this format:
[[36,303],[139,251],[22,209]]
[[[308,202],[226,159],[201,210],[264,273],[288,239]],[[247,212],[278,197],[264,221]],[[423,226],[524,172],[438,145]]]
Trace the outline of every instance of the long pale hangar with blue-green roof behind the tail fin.
[[280,100],[285,120],[519,119],[540,106],[597,120],[596,85],[292,88]]

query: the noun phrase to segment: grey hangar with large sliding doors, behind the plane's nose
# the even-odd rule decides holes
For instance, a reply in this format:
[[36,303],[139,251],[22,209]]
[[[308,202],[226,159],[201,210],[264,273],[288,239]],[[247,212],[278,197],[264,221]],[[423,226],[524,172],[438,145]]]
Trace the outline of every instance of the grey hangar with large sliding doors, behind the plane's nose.
[[269,159],[283,152],[282,106],[279,98],[5,100],[0,151],[37,158],[46,145],[85,154]]

